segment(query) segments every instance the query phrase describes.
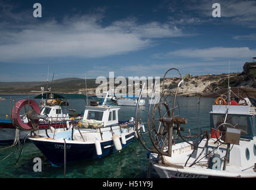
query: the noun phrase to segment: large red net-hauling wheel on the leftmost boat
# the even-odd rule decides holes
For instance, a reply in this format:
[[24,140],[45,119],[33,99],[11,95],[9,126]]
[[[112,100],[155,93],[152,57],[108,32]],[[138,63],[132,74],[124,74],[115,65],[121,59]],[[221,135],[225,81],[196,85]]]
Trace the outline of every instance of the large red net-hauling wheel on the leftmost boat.
[[13,124],[18,127],[21,130],[24,131],[30,131],[33,129],[33,124],[32,121],[29,121],[27,123],[24,123],[21,118],[20,118],[20,111],[21,109],[26,106],[29,105],[32,107],[33,110],[35,110],[36,113],[38,113],[38,115],[40,115],[40,108],[38,106],[38,103],[35,102],[35,100],[27,100],[27,99],[23,99],[18,101],[14,107],[13,107],[13,111],[11,113],[12,116],[12,120],[13,120]]

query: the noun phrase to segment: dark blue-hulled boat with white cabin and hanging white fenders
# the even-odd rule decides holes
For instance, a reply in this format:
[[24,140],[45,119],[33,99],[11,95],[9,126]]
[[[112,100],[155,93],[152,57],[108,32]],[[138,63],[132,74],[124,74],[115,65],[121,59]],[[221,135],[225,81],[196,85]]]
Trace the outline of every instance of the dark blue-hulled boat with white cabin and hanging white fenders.
[[[107,97],[106,97],[107,98]],[[121,151],[135,138],[134,118],[118,121],[119,106],[91,100],[84,117],[67,131],[32,135],[29,140],[52,166],[97,159]],[[64,159],[65,157],[65,159]],[[64,162],[66,160],[66,162]]]

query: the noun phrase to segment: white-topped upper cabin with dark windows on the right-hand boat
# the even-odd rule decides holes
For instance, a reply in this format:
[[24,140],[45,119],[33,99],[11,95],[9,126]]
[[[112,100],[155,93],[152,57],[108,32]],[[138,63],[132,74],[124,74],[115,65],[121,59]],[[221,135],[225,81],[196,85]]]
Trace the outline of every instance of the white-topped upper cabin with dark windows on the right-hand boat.
[[253,139],[256,135],[256,109],[252,106],[213,105],[210,112],[211,128],[223,124],[227,113],[226,123],[240,129],[240,137]]

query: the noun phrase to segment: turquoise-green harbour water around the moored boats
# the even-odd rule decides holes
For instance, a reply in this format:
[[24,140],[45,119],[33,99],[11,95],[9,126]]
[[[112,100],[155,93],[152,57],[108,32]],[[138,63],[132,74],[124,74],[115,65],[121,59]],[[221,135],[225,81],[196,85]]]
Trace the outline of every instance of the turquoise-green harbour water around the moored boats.
[[[0,100],[0,119],[4,119],[5,115],[10,114],[10,95],[0,95],[0,97],[7,99]],[[27,98],[26,95],[12,95],[12,97],[16,97],[16,101]],[[214,99],[201,99],[199,120],[198,98],[178,97],[178,103],[181,116],[188,119],[184,127],[192,128],[197,124],[199,126],[209,125],[209,112]],[[84,100],[72,100],[69,107],[81,113],[84,111],[85,102]],[[147,107],[145,106],[144,109],[146,110]],[[119,110],[119,120],[131,117],[135,118],[135,107],[122,106]],[[24,144],[22,156],[16,164],[20,151],[21,145],[0,150],[0,160],[6,158],[0,162],[0,178],[63,178],[64,168],[52,167],[33,143]],[[33,171],[35,157],[42,159],[42,172]],[[66,178],[146,178],[148,163],[147,151],[135,139],[120,153],[114,153],[102,159],[67,164]],[[152,178],[158,178],[155,171],[152,172]]]

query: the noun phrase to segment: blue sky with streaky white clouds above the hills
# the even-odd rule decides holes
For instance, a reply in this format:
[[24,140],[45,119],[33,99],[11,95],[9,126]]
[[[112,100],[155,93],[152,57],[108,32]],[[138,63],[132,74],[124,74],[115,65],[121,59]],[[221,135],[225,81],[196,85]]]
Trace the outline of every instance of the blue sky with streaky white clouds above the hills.
[[222,74],[229,60],[242,72],[256,57],[255,23],[251,0],[0,0],[0,82]]

